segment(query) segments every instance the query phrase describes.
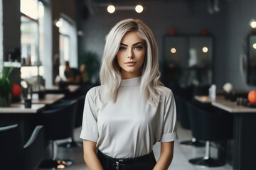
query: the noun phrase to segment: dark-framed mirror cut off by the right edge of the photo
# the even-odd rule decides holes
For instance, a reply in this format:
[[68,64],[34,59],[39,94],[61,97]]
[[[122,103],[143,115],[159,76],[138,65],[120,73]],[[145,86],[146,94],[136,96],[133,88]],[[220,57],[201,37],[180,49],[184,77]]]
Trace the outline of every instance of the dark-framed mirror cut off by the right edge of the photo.
[[256,35],[248,36],[247,45],[247,84],[256,85]]

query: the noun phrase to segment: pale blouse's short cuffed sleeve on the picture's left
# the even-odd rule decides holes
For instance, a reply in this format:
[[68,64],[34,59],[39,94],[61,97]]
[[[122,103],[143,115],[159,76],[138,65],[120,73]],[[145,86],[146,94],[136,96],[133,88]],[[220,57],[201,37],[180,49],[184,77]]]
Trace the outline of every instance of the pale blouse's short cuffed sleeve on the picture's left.
[[92,98],[92,89],[85,96],[85,107],[82,117],[82,131],[80,138],[97,142],[99,137],[97,128],[97,115],[95,112],[95,102]]

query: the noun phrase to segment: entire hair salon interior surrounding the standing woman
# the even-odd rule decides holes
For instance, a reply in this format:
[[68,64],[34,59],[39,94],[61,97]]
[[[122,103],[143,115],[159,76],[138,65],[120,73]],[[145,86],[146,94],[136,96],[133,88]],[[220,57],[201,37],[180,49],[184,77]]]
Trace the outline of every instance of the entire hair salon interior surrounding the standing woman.
[[0,0],[0,169],[87,169],[85,95],[100,84],[105,37],[124,18],[153,31],[161,81],[176,98],[169,169],[255,169],[255,8],[254,0]]

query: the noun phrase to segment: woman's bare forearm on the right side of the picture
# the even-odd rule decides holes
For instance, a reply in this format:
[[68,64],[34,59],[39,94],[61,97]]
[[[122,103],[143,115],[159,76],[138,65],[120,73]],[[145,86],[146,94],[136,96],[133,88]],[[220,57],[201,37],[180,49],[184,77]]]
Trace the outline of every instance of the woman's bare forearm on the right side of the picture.
[[161,142],[161,154],[153,170],[166,170],[169,168],[174,155],[174,141]]

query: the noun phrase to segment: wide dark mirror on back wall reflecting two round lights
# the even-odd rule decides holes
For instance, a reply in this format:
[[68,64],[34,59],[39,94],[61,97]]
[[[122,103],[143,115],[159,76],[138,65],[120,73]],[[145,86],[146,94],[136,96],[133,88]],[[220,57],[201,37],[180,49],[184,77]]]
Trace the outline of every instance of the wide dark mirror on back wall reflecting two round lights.
[[164,84],[181,87],[212,84],[212,37],[166,36],[164,55]]

